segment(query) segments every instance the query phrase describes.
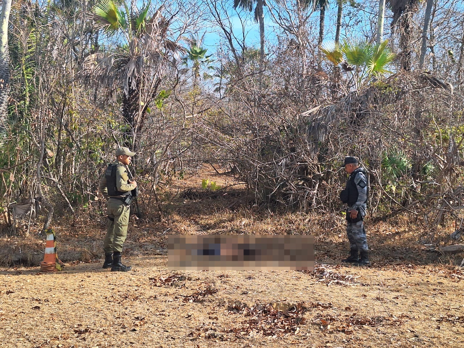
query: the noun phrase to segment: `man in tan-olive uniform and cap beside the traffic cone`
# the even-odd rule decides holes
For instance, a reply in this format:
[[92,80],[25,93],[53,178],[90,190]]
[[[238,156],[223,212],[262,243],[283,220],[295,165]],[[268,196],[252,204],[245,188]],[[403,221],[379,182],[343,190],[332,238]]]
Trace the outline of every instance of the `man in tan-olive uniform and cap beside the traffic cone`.
[[116,161],[110,163],[100,181],[100,192],[107,199],[108,230],[103,242],[105,262],[103,268],[111,271],[127,272],[132,269],[121,263],[122,244],[127,237],[129,210],[132,201],[132,190],[137,183],[129,180],[126,166],[132,161],[135,152],[129,148],[116,149]]

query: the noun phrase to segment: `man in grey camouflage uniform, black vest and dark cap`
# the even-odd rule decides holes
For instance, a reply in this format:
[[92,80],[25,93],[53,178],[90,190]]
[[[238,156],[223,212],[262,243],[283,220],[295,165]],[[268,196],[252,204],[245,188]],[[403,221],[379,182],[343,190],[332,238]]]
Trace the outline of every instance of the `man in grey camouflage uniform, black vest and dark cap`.
[[346,188],[340,193],[340,199],[343,203],[348,204],[346,230],[350,243],[350,256],[342,261],[366,265],[369,264],[369,249],[367,247],[366,230],[363,224],[367,210],[368,187],[366,172],[359,166],[358,159],[351,156],[345,158],[344,167],[350,176]]

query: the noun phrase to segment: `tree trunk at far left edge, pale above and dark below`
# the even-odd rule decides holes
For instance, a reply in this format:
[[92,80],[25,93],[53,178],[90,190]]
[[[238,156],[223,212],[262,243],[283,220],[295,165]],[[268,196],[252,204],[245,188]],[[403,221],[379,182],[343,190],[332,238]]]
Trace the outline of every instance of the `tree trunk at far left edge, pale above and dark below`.
[[8,92],[10,89],[10,64],[8,54],[8,21],[11,0],[3,0],[0,14],[0,131],[6,129]]

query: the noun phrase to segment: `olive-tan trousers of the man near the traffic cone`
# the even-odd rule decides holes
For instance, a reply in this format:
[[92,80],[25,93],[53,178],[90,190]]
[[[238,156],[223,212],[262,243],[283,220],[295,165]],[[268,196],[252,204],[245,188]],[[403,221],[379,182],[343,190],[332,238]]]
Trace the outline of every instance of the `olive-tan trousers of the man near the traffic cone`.
[[106,207],[108,209],[108,230],[103,242],[103,250],[105,253],[122,252],[122,244],[127,237],[130,207],[120,200],[111,198],[106,202]]

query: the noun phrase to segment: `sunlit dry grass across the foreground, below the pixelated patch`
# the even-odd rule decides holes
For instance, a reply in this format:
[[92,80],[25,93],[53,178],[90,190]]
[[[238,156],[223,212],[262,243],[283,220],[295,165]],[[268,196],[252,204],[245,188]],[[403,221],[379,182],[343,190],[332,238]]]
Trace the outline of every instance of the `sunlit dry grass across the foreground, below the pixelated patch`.
[[[1,271],[3,346],[462,347],[464,343],[463,274],[442,267],[335,270],[358,277],[356,281],[366,286],[328,286],[296,271],[186,271],[180,272],[185,286],[160,287],[150,278],[172,274],[165,271],[165,256],[129,261],[134,266],[129,274],[102,270],[100,263],[68,265],[53,275],[38,269]],[[248,308],[255,303],[303,303],[304,320],[272,338],[266,335],[275,334],[267,314],[261,313],[260,319],[268,331],[248,330],[250,314],[229,310],[236,301]],[[255,323],[258,314],[252,313]]]

